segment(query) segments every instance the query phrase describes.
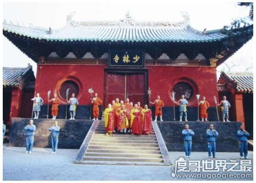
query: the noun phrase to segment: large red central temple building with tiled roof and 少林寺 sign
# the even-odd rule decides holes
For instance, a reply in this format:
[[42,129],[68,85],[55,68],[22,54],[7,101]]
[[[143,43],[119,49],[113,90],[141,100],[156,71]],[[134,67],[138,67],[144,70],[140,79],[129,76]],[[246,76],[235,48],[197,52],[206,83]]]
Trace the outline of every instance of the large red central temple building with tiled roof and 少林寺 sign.
[[[166,121],[174,119],[171,92],[176,101],[185,95],[190,121],[198,118],[196,95],[200,94],[210,103],[208,119],[215,121],[216,67],[252,38],[253,25],[199,31],[189,25],[186,15],[181,22],[138,22],[131,16],[77,22],[71,14],[66,25],[56,30],[4,21],[3,34],[37,63],[34,90],[45,100],[48,91],[57,93],[62,103],[59,118],[65,118],[70,88],[69,97],[74,92],[79,100],[76,118],[89,119],[92,88],[102,98],[103,108],[117,97],[143,106],[159,95],[165,102]],[[235,98],[241,95],[236,92]],[[46,118],[46,110],[44,104],[40,118]],[[233,120],[242,120],[238,110],[230,112]]]

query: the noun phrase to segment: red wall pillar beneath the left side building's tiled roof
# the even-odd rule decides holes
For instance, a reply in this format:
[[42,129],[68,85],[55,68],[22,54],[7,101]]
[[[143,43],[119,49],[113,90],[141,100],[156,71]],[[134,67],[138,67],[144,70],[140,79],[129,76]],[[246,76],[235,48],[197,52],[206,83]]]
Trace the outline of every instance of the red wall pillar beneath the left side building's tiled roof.
[[11,109],[9,124],[11,124],[12,117],[19,117],[21,110],[22,91],[19,88],[13,88],[11,91]]

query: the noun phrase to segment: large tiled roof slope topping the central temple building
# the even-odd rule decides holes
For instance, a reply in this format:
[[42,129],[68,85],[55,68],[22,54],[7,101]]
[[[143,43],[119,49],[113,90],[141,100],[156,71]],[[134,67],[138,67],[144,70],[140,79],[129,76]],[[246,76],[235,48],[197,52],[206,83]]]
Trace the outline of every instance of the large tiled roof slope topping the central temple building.
[[4,21],[3,30],[28,38],[47,41],[110,41],[110,42],[214,42],[227,38],[220,30],[197,31],[188,22],[137,22],[126,18],[120,21],[74,22],[50,30],[42,27],[25,27]]

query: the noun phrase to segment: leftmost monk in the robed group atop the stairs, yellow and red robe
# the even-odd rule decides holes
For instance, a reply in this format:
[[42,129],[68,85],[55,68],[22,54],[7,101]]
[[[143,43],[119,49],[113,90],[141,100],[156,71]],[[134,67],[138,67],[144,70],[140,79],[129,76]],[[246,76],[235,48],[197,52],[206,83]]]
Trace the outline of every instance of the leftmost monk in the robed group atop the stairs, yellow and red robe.
[[108,108],[104,111],[104,120],[105,120],[105,128],[106,128],[106,135],[112,135],[114,132],[114,109],[112,108],[111,104],[108,104]]

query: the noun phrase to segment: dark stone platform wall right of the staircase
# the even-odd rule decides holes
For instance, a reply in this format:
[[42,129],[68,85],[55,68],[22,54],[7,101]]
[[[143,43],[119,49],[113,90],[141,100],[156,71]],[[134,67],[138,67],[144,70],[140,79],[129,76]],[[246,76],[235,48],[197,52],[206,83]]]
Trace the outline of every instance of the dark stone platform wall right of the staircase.
[[192,151],[207,151],[206,130],[210,124],[219,133],[216,140],[216,151],[238,152],[239,143],[236,132],[240,122],[158,122],[168,151],[184,151],[182,130],[188,124],[195,133],[192,140]]

